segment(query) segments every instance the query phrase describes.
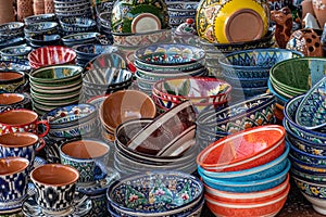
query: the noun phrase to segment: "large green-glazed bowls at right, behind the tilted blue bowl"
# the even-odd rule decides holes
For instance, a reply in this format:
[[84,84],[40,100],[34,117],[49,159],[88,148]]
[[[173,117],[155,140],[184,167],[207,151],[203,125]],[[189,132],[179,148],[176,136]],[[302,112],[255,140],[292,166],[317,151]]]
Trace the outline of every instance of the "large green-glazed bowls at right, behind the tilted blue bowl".
[[283,61],[271,68],[269,91],[284,105],[293,97],[305,93],[324,75],[326,59],[301,58]]

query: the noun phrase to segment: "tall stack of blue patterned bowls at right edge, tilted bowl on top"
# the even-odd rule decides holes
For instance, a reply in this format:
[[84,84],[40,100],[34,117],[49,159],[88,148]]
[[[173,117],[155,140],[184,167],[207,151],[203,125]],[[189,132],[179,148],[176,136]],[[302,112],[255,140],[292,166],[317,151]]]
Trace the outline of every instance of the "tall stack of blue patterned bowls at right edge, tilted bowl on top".
[[305,94],[292,98],[285,105],[284,126],[290,144],[292,178],[313,208],[325,215],[325,95],[326,77]]

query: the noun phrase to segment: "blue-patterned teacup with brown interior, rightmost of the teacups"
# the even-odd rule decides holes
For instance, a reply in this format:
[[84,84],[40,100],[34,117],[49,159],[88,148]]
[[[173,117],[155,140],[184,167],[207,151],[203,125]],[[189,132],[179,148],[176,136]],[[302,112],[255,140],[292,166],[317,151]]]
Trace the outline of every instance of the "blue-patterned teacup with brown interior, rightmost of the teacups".
[[75,167],[79,174],[78,184],[91,184],[106,175],[110,146],[98,140],[73,140],[60,146],[62,164]]

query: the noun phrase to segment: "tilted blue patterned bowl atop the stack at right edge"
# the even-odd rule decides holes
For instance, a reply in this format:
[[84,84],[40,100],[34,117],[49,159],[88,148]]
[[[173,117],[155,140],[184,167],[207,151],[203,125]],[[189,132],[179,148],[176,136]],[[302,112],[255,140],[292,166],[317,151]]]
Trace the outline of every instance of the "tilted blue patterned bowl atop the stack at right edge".
[[297,124],[308,129],[326,126],[326,77],[305,93],[296,113]]

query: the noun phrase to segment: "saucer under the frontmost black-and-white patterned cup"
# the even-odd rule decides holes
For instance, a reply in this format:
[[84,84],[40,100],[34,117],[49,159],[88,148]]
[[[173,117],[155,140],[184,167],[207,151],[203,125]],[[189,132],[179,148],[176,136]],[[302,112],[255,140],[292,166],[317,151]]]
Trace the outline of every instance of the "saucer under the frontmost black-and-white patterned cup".
[[[91,200],[79,192],[75,193],[75,199],[73,206],[67,210],[66,214],[60,215],[61,217],[80,217],[87,215],[91,209]],[[35,196],[29,196],[26,201],[24,201],[22,205],[22,212],[27,217],[53,217],[51,214],[46,214],[38,206],[35,201]]]

